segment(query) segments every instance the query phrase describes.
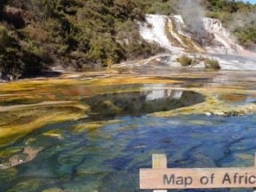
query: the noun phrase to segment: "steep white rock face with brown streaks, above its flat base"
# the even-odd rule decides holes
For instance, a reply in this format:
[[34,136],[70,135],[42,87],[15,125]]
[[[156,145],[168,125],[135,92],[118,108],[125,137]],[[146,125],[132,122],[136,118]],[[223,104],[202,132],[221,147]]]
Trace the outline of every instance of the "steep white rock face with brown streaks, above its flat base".
[[[256,54],[244,50],[239,46],[230,32],[226,30],[218,19],[202,18],[206,36],[200,38],[199,44],[193,40],[193,35],[187,30],[180,15],[166,16],[147,14],[146,22],[140,25],[142,38],[149,42],[158,42],[166,50],[173,54],[186,53],[210,53],[210,54],[234,54],[256,58]],[[203,46],[202,46],[203,45]]]

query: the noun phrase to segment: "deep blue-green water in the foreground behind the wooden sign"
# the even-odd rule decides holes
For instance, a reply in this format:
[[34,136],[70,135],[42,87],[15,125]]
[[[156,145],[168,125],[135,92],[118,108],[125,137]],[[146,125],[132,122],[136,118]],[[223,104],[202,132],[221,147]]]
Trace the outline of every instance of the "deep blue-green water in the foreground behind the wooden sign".
[[[139,190],[138,171],[151,167],[154,153],[167,154],[168,167],[254,165],[255,114],[170,118],[144,115],[115,119],[122,121],[80,132],[75,130],[75,126],[90,122],[90,118],[85,118],[45,126],[26,136],[11,147],[33,146],[44,150],[31,162],[2,170],[0,191],[50,188],[59,191],[147,191]],[[49,130],[58,130],[62,138],[43,135]],[[32,142],[26,142],[29,140]]]

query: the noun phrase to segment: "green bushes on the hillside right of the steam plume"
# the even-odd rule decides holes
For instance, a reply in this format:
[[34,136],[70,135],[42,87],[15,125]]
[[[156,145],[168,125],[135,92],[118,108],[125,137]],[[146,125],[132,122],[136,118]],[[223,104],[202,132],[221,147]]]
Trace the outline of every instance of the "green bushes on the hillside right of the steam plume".
[[256,5],[242,1],[208,0],[206,16],[218,18],[243,46],[256,49]]

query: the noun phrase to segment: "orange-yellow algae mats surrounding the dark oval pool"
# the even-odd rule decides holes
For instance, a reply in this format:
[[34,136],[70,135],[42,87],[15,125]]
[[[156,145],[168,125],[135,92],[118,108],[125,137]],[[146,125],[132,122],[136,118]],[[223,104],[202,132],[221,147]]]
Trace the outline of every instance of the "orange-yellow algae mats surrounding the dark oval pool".
[[[113,72],[114,71],[114,72]],[[102,74],[106,71],[102,71]],[[21,82],[12,82],[0,85],[0,105],[18,104],[24,103],[40,103],[44,101],[58,101],[63,99],[66,101],[79,100],[82,98],[88,98],[92,95],[107,94],[107,93],[122,93],[127,91],[138,91],[141,90],[140,85],[145,84],[163,84],[173,85],[180,83],[186,85],[186,81],[183,78],[178,80],[174,75],[174,79],[168,77],[154,77],[144,76],[139,77],[136,75],[116,75],[115,70],[110,70],[110,77],[106,78],[92,78],[87,80],[77,80],[69,78],[67,74],[63,75],[62,78],[52,78],[43,80],[29,80]],[[115,74],[115,77],[111,77],[111,73]],[[90,72],[90,75],[93,75]],[[218,73],[213,72],[209,74],[203,74],[203,77],[210,78]],[[239,73],[238,73],[239,74]],[[84,76],[85,74],[78,74]],[[191,79],[202,77],[202,74],[187,74]],[[179,77],[181,77],[179,75]],[[219,87],[197,87],[196,84],[190,84],[190,87],[183,88],[182,90],[192,90],[201,94],[206,95],[206,102],[200,103],[190,107],[184,107],[177,110],[171,110],[168,112],[158,112],[153,115],[155,116],[170,116],[177,114],[219,114],[226,116],[242,115],[248,113],[254,113],[256,107],[253,103],[233,105],[232,103],[223,102],[222,98],[218,98],[222,94],[255,94],[253,90],[242,89],[242,86],[219,86]],[[93,87],[92,87],[93,86]],[[6,95],[7,94],[7,95]],[[6,95],[6,96],[5,96]],[[8,96],[8,97],[7,97]],[[113,113],[119,113],[120,108],[114,106],[110,101],[104,102],[104,104]],[[73,105],[73,106],[72,106]],[[22,138],[24,135],[29,134],[31,131],[38,129],[39,127],[45,126],[54,122],[63,122],[68,120],[74,120],[82,118],[86,114],[87,109],[81,110],[81,107],[77,107],[78,104],[63,104],[63,106],[31,106],[22,109],[11,110],[0,112],[0,134],[1,144],[5,146],[8,143],[17,141],[18,138]],[[18,107],[18,106],[17,106]],[[3,109],[3,108],[2,108]],[[67,118],[70,117],[70,118]],[[54,134],[52,134],[53,136]],[[57,137],[57,135],[55,135]],[[61,135],[58,135],[61,138]]]

